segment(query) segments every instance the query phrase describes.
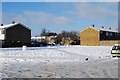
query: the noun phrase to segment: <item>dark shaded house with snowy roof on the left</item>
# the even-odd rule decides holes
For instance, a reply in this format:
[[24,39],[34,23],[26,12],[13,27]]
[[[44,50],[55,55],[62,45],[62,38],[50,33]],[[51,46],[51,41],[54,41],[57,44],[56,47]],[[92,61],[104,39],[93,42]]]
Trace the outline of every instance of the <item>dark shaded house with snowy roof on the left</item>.
[[21,23],[1,24],[0,47],[20,47],[31,42],[31,30]]

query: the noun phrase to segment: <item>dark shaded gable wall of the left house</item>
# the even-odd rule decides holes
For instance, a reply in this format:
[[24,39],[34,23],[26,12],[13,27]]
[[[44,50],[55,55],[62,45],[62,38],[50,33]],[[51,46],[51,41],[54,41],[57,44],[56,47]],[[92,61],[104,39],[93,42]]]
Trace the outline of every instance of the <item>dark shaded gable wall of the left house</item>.
[[17,42],[27,44],[31,41],[31,30],[23,27],[22,25],[16,25],[14,27],[10,27],[6,29],[6,36],[5,36],[6,45],[10,42]]

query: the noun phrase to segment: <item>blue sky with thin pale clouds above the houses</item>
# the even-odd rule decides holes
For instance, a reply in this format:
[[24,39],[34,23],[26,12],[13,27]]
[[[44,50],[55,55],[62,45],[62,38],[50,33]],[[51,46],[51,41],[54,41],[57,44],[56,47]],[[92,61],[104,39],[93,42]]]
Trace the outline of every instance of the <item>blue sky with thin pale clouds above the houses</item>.
[[62,30],[79,32],[92,24],[117,28],[118,3],[2,2],[2,17],[4,24],[14,20],[27,25],[32,29],[32,35],[40,34],[42,28],[57,33]]

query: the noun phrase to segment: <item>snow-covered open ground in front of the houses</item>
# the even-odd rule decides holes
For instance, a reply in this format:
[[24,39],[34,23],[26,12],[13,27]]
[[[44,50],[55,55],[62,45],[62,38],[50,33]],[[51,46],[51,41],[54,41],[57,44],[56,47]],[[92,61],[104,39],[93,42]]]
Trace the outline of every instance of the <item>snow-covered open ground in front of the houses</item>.
[[111,46],[1,48],[0,64],[3,78],[118,78]]

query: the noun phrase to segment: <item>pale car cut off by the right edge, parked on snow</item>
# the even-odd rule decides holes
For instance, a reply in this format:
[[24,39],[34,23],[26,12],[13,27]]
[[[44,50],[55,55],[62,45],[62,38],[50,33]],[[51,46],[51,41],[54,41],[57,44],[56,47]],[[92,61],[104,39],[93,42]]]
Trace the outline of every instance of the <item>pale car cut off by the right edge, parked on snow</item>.
[[111,50],[112,57],[120,57],[120,44],[115,44]]

